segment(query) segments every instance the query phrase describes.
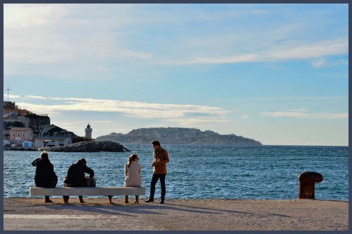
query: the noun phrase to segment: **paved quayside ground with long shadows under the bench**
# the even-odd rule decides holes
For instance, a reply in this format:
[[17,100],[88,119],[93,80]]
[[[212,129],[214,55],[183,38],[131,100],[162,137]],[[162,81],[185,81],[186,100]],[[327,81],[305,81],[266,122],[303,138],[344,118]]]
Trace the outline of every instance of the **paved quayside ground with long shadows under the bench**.
[[109,204],[107,197],[84,196],[80,203],[72,196],[63,204],[62,197],[50,199],[53,203],[44,203],[44,197],[3,198],[4,230],[347,231],[349,224],[348,200],[166,198],[159,204],[160,199],[140,198],[136,204],[132,196],[130,203],[114,196]]

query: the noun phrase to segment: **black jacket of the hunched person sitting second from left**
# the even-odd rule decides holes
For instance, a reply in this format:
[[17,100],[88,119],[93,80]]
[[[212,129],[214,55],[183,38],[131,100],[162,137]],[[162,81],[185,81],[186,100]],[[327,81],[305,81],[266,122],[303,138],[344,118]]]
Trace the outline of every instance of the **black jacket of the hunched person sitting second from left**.
[[88,173],[89,177],[94,176],[94,171],[84,165],[82,162],[72,163],[71,166],[68,168],[64,183],[70,184],[73,187],[85,187],[85,173]]

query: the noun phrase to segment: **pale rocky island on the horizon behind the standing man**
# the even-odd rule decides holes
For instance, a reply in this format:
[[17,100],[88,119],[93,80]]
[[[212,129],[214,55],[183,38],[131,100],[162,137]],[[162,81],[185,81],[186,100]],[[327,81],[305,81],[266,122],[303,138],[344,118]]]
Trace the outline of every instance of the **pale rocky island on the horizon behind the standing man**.
[[119,143],[151,143],[157,139],[162,144],[214,144],[214,145],[262,145],[261,142],[236,136],[220,135],[213,131],[200,131],[195,128],[139,128],[127,134],[110,133],[96,137],[96,141],[115,141]]

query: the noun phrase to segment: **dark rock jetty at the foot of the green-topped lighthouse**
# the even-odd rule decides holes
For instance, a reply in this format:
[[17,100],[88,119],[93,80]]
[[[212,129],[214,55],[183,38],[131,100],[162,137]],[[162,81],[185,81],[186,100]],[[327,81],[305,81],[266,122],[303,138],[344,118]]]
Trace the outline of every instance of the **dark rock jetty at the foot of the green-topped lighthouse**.
[[51,152],[130,152],[123,145],[113,141],[82,141],[66,146],[45,149]]

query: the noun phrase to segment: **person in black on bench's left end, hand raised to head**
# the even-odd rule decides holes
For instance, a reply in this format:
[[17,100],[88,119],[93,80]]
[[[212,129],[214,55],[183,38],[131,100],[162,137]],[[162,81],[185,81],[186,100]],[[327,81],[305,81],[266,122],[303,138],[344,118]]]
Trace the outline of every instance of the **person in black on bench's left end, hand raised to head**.
[[[43,152],[40,158],[35,159],[32,165],[36,167],[34,176],[35,185],[37,187],[55,188],[57,176],[54,172],[54,166],[51,164],[48,154]],[[45,202],[52,202],[49,196],[45,196]]]

